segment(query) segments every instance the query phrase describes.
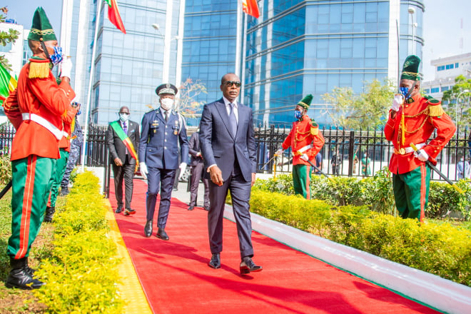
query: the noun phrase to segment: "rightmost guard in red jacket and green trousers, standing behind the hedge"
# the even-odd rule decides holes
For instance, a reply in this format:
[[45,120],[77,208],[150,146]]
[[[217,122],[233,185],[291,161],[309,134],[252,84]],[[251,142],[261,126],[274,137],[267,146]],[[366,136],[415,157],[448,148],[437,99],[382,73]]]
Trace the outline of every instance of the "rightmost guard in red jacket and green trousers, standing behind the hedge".
[[[443,111],[440,101],[420,94],[420,59],[407,56],[400,76],[400,93],[391,106],[385,137],[392,141],[394,154],[389,170],[393,173],[393,189],[397,211],[402,218],[422,222],[428,202],[430,167],[456,131],[455,124]],[[430,136],[437,130],[437,136]],[[428,141],[428,143],[427,143]],[[415,144],[417,152],[411,147]]]

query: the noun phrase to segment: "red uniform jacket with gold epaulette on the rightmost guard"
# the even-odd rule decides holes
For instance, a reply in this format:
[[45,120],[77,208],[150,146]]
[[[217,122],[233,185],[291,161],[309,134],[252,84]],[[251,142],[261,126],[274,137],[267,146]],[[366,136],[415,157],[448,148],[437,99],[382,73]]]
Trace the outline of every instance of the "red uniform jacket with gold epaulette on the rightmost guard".
[[[424,162],[414,156],[413,151],[405,152],[410,143],[415,145],[426,143],[435,128],[437,137],[426,143],[422,149],[430,156],[430,161],[436,163],[435,157],[442,151],[443,146],[450,141],[455,134],[456,127],[451,118],[442,110],[440,101],[428,99],[420,94],[412,98],[411,103],[405,102],[400,107],[394,119],[389,115],[385,126],[385,137],[392,141],[395,153],[391,157],[389,170],[395,174],[406,173],[421,166]],[[401,116],[404,109],[405,141],[402,143]],[[410,149],[410,148],[408,148]]]

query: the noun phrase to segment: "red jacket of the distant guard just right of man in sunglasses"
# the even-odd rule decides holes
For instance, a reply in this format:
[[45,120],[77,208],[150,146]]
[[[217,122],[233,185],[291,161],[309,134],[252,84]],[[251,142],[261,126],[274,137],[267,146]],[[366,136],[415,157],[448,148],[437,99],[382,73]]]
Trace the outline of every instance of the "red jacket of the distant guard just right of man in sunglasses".
[[[303,152],[299,151],[301,148],[311,143],[312,148],[308,148]],[[311,121],[310,118],[305,115],[303,116],[303,121],[295,121],[293,123],[293,128],[291,128],[290,133],[281,146],[283,149],[291,147],[293,151],[293,165],[301,164],[310,166],[307,161],[303,161],[300,157],[305,153],[308,155],[309,160],[315,164],[315,155],[317,155],[322,146],[324,146],[324,136],[319,132],[318,123]]]

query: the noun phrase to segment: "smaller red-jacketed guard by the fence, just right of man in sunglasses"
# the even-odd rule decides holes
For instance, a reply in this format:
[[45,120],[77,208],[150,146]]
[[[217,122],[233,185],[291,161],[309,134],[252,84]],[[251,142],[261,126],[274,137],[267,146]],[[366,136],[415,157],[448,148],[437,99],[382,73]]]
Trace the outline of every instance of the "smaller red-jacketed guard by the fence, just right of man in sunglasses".
[[310,102],[313,96],[305,96],[295,107],[293,128],[286,136],[275,155],[280,156],[283,150],[291,147],[293,153],[293,186],[295,193],[310,199],[310,163],[315,164],[315,155],[324,146],[324,137],[319,132],[318,123],[308,116]]

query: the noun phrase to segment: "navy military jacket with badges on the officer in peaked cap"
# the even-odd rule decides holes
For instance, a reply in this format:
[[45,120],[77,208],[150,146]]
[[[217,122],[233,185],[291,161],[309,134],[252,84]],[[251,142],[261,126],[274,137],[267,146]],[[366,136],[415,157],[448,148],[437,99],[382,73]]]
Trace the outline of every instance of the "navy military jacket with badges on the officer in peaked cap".
[[168,121],[165,121],[158,108],[143,116],[141,126],[139,162],[152,168],[176,169],[179,166],[179,143],[180,160],[188,163],[188,136],[185,123],[180,121],[178,113],[171,111]]

